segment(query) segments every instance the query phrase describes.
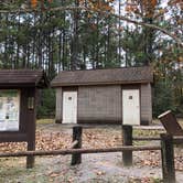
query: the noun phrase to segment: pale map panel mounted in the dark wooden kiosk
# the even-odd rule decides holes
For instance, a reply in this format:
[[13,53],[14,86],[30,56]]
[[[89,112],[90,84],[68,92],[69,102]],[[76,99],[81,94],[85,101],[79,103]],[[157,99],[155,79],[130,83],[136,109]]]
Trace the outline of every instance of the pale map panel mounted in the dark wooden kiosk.
[[0,89],[0,131],[19,131],[20,92]]

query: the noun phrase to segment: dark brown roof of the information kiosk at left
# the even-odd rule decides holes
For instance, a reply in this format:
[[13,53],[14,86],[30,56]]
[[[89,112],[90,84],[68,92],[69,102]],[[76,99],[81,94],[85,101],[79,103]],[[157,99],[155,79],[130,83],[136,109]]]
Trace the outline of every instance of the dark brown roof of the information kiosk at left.
[[0,69],[0,87],[46,87],[49,80],[42,69]]

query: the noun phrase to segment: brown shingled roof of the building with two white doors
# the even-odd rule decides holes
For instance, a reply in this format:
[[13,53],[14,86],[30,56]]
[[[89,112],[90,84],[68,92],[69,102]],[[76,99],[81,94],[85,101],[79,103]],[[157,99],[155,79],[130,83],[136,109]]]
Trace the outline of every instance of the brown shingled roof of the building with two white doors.
[[149,66],[121,67],[61,72],[51,83],[52,87],[152,83],[153,72]]

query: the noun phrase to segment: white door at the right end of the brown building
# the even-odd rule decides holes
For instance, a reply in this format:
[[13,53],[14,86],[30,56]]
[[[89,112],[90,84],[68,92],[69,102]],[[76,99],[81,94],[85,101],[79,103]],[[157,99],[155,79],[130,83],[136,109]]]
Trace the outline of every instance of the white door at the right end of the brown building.
[[140,125],[139,89],[122,90],[122,123]]

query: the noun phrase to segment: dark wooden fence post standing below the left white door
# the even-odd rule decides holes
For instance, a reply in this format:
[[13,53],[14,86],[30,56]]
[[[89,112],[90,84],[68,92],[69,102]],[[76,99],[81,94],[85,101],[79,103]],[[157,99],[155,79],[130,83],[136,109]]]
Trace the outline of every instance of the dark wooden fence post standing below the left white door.
[[[78,143],[74,147],[74,149],[80,149],[82,148],[82,127],[73,127],[73,141],[77,140]],[[72,165],[82,163],[82,153],[74,153],[72,155]]]

